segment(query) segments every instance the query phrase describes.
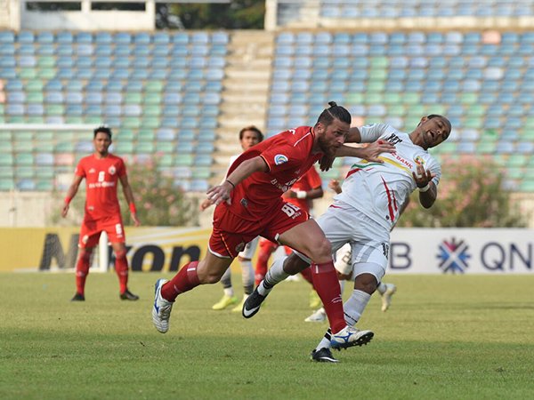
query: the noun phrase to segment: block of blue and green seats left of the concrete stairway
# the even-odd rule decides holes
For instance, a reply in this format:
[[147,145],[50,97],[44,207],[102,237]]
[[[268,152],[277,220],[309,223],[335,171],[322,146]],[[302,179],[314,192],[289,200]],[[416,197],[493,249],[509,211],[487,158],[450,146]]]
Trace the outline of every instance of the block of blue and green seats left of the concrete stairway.
[[[217,125],[228,42],[225,32],[0,31],[0,124],[105,122],[130,161],[206,168],[214,147],[199,138]],[[0,134],[2,190],[53,188],[56,173],[92,151],[91,132]],[[174,151],[182,147],[190,151]],[[177,184],[204,190],[207,178]]]

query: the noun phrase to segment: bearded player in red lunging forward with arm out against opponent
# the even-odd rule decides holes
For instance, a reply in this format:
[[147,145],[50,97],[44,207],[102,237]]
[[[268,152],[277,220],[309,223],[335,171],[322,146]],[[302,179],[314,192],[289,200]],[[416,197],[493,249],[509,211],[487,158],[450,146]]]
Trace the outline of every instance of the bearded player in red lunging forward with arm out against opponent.
[[[152,322],[158,332],[168,331],[171,310],[179,294],[199,284],[217,282],[245,244],[259,235],[298,249],[313,260],[313,282],[335,332],[331,337],[333,347],[346,348],[366,339],[365,332],[344,322],[331,246],[322,230],[314,220],[308,219],[306,212],[281,198],[322,156],[333,159],[336,150],[344,144],[350,125],[349,112],[331,102],[313,127],[300,126],[281,132],[239,156],[223,184],[207,191],[217,207],[206,257],[183,266],[171,281],[156,282]],[[360,149],[361,156],[376,160],[389,147],[377,142]],[[243,307],[246,317],[259,309],[247,308],[250,299],[247,298]]]

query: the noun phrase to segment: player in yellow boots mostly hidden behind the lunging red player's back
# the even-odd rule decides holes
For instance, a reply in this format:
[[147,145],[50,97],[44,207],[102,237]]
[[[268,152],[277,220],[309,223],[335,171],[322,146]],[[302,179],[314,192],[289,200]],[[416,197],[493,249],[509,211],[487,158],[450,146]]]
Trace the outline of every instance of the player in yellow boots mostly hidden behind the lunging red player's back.
[[[246,126],[239,131],[239,143],[241,144],[243,151],[247,150],[248,148],[252,148],[262,140],[263,133],[254,125]],[[228,164],[229,168],[239,156],[240,154],[230,157],[230,163]],[[212,203],[209,201],[209,199],[206,199],[204,202],[202,202],[202,204],[200,204],[200,209],[204,211],[211,204]],[[224,291],[223,297],[213,305],[212,309],[222,310],[224,308],[234,306],[232,311],[241,312],[241,308],[243,308],[243,302],[247,300],[248,295],[254,290],[255,272],[252,266],[252,257],[254,256],[256,247],[258,246],[258,241],[259,237],[256,237],[252,242],[247,243],[245,249],[238,254],[238,260],[241,265],[241,276],[243,279],[243,300],[239,302],[234,293],[233,286],[231,284],[231,268],[228,268],[221,277],[221,284],[223,284]]]

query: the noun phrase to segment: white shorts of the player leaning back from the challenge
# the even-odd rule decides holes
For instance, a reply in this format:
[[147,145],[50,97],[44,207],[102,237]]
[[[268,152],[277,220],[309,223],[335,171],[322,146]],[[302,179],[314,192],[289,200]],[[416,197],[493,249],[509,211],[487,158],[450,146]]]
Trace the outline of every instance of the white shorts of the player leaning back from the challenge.
[[[389,257],[390,233],[386,228],[362,212],[339,202],[328,207],[327,212],[316,221],[332,245],[332,252],[337,252],[344,244],[351,245],[353,273],[360,275],[369,272],[376,276],[378,281],[382,279]],[[305,260],[301,254],[299,256]],[[350,273],[346,263],[343,268],[343,260],[339,260],[336,264],[343,269],[340,272],[345,275]],[[360,271],[357,264],[362,264],[361,267],[368,264],[368,268],[372,270]],[[375,267],[370,268],[370,264],[374,264]],[[378,269],[382,269],[383,272],[380,273]]]

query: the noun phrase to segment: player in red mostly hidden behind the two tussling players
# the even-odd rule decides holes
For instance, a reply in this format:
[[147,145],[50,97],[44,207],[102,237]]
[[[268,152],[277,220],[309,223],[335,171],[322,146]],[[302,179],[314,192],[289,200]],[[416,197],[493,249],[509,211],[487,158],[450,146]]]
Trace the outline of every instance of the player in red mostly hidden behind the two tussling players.
[[[298,208],[305,211],[310,215],[312,209],[312,200],[315,198],[320,198],[324,195],[322,189],[322,181],[320,179],[319,172],[315,169],[314,166],[310,168],[306,173],[303,174],[300,180],[295,182],[293,188],[287,190],[284,193],[284,200],[287,203],[295,204]],[[265,238],[260,239],[260,250],[258,252],[258,258],[255,265],[255,285],[257,286],[262,282],[263,277],[267,273],[268,262],[271,254],[276,251],[279,247],[279,244],[271,242]],[[287,254],[292,252],[291,248],[286,247]],[[312,276],[305,275],[309,270],[305,270],[303,276],[308,282],[312,284]]]

